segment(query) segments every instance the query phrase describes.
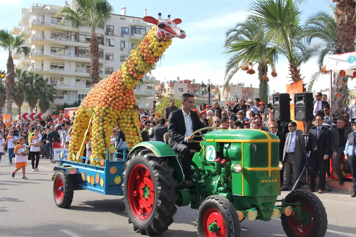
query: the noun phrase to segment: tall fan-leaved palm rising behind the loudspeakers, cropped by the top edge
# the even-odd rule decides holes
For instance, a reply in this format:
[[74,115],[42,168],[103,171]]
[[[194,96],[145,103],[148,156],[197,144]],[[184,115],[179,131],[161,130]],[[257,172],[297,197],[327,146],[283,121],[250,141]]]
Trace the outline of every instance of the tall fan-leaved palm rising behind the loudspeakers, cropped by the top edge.
[[269,43],[287,58],[293,82],[301,80],[299,58],[304,45],[298,4],[293,0],[256,0],[250,11],[261,21],[265,34],[271,37]]

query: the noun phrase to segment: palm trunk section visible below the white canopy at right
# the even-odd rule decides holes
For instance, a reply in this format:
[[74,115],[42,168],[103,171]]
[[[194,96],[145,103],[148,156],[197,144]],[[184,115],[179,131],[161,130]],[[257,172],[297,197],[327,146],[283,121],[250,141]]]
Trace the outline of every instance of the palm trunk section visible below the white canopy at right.
[[335,116],[342,115],[345,109],[346,104],[346,86],[347,80],[349,79],[348,76],[340,76],[340,74],[334,74],[333,80],[333,97],[330,98],[333,108],[333,114]]

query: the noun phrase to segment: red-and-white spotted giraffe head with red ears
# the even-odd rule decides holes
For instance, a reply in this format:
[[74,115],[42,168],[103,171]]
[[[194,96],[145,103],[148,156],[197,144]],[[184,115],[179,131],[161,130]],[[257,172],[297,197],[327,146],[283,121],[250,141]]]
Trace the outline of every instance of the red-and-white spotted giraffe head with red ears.
[[167,41],[174,37],[181,39],[186,37],[185,32],[177,26],[182,23],[179,18],[171,20],[171,15],[168,15],[167,19],[162,19],[161,13],[158,13],[158,19],[152,16],[145,16],[143,20],[156,25],[155,34],[159,40]]

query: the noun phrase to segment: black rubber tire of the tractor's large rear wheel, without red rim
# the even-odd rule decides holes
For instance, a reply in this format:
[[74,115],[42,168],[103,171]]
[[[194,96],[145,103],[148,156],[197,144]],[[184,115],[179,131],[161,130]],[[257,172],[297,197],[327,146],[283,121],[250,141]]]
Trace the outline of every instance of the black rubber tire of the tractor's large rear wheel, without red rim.
[[[145,220],[140,220],[133,214],[129,201],[129,195],[133,196],[128,187],[130,173],[138,166],[144,166],[149,172],[155,194],[152,211]],[[125,212],[129,216],[129,223],[133,224],[133,230],[140,231],[142,235],[157,235],[168,230],[168,226],[173,223],[173,215],[177,212],[178,199],[175,190],[177,181],[173,178],[173,168],[168,165],[168,159],[157,157],[147,149],[136,150],[128,157],[125,168],[121,187],[124,190]]]

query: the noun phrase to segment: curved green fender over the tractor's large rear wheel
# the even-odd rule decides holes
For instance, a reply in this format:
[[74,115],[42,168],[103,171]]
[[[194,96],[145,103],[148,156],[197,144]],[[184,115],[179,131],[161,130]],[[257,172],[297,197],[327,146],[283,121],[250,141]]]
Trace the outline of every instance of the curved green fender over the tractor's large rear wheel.
[[170,146],[166,143],[161,141],[145,141],[140,142],[135,147],[131,149],[129,154],[127,155],[127,160],[130,159],[131,152],[135,152],[138,149],[149,149],[155,154],[157,157],[168,158],[169,159],[169,166],[171,166],[173,171],[173,177],[177,180],[178,183],[184,181],[184,174],[182,167],[180,166],[179,161],[177,160],[177,154],[172,150]]

